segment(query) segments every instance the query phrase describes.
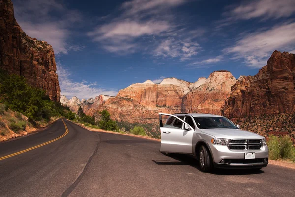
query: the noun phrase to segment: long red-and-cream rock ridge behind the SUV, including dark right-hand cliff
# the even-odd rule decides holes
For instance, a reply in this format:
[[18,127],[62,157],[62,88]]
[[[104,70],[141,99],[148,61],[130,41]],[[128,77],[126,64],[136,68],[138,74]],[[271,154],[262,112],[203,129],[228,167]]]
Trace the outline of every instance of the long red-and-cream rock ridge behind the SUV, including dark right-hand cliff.
[[[229,118],[292,114],[295,113],[295,55],[274,51],[267,65],[255,76],[240,76],[236,80],[231,72],[219,70],[208,78],[200,77],[195,83],[174,77],[165,78],[159,84],[147,80],[103,100],[94,101],[100,104],[80,105],[88,115],[95,116],[106,109],[113,119],[131,123],[155,123],[158,112],[212,113]],[[76,106],[74,110],[77,109]]]

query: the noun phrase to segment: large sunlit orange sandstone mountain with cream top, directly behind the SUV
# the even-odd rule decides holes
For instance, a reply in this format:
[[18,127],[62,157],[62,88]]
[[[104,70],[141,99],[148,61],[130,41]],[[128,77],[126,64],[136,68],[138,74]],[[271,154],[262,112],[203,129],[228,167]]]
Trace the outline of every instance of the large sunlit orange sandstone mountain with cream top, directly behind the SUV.
[[228,71],[213,72],[208,79],[201,77],[195,83],[177,78],[166,78],[160,84],[148,80],[120,90],[98,110],[107,109],[115,120],[131,123],[153,123],[158,112],[220,114],[235,82]]

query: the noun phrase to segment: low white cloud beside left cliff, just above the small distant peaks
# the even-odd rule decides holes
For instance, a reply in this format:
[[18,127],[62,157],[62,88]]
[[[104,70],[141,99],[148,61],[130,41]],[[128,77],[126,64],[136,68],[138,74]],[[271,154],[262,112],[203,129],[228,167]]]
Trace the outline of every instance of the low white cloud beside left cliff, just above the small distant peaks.
[[61,89],[61,94],[65,95],[68,98],[73,96],[78,97],[79,99],[90,97],[96,97],[98,95],[117,95],[118,91],[116,90],[107,90],[105,88],[98,88],[97,82],[87,82],[86,80],[76,82],[69,78],[71,72],[67,70],[64,66],[61,66],[60,63],[57,63],[57,73],[59,75],[59,85]]

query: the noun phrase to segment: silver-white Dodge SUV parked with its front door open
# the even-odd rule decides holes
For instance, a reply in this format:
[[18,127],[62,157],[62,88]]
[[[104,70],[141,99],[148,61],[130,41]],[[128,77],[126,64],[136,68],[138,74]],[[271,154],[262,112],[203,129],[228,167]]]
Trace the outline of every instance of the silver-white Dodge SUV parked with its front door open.
[[[266,139],[241,130],[223,116],[187,113],[159,115],[160,152],[194,155],[203,172],[209,172],[213,167],[260,170],[268,164]],[[165,124],[162,116],[167,117]]]

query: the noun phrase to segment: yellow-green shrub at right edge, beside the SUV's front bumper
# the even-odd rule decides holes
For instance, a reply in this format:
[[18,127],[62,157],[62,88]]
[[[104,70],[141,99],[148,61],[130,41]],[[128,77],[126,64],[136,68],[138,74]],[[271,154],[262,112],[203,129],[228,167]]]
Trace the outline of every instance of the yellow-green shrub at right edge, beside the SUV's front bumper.
[[289,136],[277,137],[271,135],[267,141],[269,159],[291,159],[295,161],[295,147]]

